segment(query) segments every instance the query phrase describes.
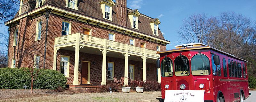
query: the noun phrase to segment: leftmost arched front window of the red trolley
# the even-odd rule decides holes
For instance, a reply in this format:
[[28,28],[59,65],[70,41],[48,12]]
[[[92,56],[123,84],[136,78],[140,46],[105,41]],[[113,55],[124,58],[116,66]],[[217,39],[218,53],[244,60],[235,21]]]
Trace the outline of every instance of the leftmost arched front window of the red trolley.
[[[168,61],[168,63],[167,63]],[[168,66],[169,64],[169,66]],[[161,64],[161,69],[162,69],[162,77],[171,77],[173,76],[173,65],[172,65],[172,59],[171,58],[164,58],[162,60]]]

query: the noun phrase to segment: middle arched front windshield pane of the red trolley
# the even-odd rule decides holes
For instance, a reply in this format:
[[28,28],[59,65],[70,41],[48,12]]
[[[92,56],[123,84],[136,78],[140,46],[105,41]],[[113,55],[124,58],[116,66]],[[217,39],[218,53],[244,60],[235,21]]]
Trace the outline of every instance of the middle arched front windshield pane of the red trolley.
[[188,76],[190,74],[188,58],[185,56],[182,57],[184,58],[184,61],[180,56],[174,60],[175,76]]

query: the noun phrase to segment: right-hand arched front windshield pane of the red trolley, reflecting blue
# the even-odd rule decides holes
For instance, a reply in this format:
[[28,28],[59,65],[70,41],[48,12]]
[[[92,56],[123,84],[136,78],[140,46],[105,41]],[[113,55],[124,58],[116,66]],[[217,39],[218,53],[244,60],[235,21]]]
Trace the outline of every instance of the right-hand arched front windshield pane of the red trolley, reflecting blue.
[[192,75],[210,75],[209,58],[203,54],[201,55],[197,54],[191,59]]

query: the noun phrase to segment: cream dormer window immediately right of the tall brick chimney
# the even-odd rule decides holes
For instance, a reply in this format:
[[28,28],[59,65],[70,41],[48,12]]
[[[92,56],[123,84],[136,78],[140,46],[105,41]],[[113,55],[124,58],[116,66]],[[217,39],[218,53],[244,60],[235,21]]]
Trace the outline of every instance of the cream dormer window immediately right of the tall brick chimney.
[[131,10],[131,11],[128,12],[128,17],[130,19],[132,28],[139,29],[139,27],[138,27],[139,16],[141,16],[141,15],[140,15],[140,12],[137,9],[136,10]]

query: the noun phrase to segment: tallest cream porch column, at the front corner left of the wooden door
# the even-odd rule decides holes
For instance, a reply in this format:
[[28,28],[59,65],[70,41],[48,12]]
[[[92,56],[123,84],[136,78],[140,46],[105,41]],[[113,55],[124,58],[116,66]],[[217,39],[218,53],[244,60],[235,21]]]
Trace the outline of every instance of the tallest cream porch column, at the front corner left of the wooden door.
[[74,80],[73,85],[79,85],[78,81],[78,67],[79,67],[79,50],[80,50],[80,33],[76,33],[76,45],[73,46],[76,50],[75,65],[74,65]]

